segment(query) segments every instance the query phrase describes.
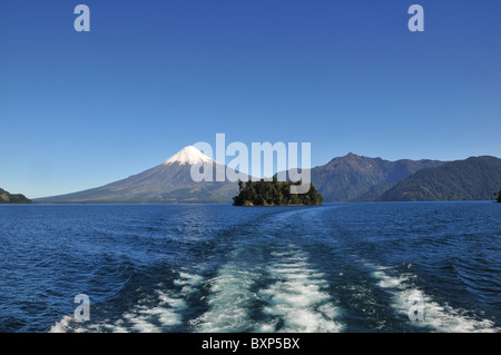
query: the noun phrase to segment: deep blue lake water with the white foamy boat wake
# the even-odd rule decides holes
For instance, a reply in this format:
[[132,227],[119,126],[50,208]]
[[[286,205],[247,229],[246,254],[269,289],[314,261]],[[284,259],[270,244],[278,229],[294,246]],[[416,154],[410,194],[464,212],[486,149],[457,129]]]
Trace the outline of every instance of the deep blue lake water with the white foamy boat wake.
[[0,206],[0,332],[499,332],[500,217],[488,201]]

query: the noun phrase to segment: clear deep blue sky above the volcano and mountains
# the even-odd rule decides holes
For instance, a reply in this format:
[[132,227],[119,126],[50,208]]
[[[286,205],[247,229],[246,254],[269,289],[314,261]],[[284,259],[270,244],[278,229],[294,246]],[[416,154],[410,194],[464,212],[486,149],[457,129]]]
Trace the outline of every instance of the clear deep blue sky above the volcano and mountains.
[[501,157],[500,16],[499,0],[1,1],[0,187],[97,187],[217,132],[312,142],[314,166]]

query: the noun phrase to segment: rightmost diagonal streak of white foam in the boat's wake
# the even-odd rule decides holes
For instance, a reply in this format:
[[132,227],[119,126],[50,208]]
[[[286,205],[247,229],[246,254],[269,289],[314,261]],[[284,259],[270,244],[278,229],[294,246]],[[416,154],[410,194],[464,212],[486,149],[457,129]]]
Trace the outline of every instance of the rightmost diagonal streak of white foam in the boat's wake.
[[473,332],[499,332],[494,327],[493,322],[489,319],[479,319],[473,318],[472,316],[465,315],[465,310],[454,309],[449,305],[440,305],[434,302],[430,296],[425,295],[420,289],[412,287],[410,280],[414,278],[414,275],[404,274],[400,277],[389,276],[384,269],[384,267],[375,267],[376,270],[372,273],[372,275],[379,279],[377,285],[382,288],[389,289],[393,293],[393,307],[409,317],[410,309],[413,307],[413,310],[416,308],[416,299],[420,299],[421,304],[418,304],[422,307],[422,321],[418,317],[418,310],[415,310],[414,319],[409,321],[412,322],[413,325],[431,327],[436,332],[444,333],[473,333]]

